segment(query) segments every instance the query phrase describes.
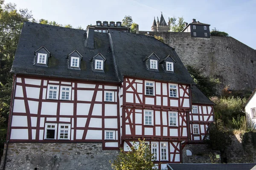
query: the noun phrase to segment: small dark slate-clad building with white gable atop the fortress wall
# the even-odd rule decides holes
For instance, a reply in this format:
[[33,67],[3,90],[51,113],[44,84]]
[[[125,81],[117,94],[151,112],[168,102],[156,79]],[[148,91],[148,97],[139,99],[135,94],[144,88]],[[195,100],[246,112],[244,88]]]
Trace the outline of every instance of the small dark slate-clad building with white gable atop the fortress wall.
[[185,28],[181,32],[190,32],[191,37],[199,38],[209,38],[210,37],[210,25],[200,23],[195,19],[192,20],[192,23],[185,23]]

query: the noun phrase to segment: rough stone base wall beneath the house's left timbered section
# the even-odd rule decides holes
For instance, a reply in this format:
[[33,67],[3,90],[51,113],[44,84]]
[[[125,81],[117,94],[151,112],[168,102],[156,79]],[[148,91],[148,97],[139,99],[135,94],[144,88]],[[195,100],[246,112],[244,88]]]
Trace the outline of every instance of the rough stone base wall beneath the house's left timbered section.
[[9,143],[5,170],[112,170],[118,153],[101,143]]

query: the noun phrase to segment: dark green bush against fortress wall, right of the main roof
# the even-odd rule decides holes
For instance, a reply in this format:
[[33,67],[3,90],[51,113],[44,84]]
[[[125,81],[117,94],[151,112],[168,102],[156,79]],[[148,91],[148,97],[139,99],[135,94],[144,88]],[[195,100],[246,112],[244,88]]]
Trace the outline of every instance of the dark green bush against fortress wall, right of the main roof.
[[216,88],[221,83],[219,79],[206,77],[199,69],[191,65],[186,65],[186,68],[191,77],[194,79],[196,86],[204,93],[204,95],[210,97],[216,94]]

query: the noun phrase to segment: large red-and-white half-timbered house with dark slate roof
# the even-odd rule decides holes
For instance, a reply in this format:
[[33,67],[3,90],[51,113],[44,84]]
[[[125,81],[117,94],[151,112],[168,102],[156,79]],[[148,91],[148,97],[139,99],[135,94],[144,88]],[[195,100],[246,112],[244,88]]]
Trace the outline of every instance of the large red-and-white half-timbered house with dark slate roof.
[[127,151],[140,138],[161,169],[213,121],[175,49],[151,36],[25,22],[11,72],[9,143]]

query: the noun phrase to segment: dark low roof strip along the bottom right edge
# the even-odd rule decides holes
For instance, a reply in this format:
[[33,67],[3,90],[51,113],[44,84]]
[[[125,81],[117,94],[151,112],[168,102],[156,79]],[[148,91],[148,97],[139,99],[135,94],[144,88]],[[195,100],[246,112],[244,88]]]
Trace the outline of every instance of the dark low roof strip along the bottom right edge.
[[250,164],[167,164],[169,170],[250,170],[256,163]]

